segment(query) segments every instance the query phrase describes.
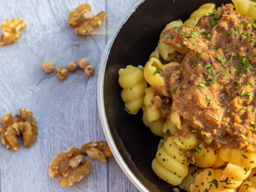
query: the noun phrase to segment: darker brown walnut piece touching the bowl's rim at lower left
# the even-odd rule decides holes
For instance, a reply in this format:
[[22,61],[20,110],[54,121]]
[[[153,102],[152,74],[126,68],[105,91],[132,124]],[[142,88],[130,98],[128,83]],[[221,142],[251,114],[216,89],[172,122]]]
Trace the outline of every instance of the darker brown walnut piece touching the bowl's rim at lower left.
[[82,154],[90,158],[106,162],[106,157],[113,157],[110,147],[106,141],[89,142],[81,146]]

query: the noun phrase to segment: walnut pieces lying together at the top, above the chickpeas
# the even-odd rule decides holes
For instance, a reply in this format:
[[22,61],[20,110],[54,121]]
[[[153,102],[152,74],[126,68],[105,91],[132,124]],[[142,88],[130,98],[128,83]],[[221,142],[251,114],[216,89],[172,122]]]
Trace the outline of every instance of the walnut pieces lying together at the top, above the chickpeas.
[[104,11],[97,15],[92,14],[89,4],[81,4],[69,13],[68,24],[70,27],[77,27],[75,33],[77,35],[86,35],[91,33],[95,27],[99,27],[106,18]]

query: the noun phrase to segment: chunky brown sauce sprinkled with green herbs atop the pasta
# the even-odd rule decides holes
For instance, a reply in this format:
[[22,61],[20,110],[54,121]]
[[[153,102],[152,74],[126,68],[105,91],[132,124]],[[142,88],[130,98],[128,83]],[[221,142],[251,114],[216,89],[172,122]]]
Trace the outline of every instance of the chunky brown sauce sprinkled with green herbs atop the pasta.
[[163,34],[172,36],[165,44],[189,48],[180,67],[162,72],[181,118],[179,135],[193,132],[206,147],[255,152],[255,27],[231,4],[202,16],[196,27],[165,27]]

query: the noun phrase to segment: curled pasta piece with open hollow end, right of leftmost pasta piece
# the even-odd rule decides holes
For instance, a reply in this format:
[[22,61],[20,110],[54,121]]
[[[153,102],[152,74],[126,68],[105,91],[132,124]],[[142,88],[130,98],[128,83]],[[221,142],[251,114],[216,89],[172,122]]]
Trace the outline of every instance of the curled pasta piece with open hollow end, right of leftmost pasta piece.
[[152,87],[164,87],[164,78],[159,74],[162,72],[162,63],[157,58],[150,58],[144,68],[144,77]]

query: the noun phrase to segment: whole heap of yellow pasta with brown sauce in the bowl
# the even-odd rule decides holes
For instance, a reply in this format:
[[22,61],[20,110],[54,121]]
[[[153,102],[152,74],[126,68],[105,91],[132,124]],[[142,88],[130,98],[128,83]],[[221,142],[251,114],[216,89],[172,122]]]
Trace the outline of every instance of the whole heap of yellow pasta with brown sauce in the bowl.
[[191,192],[256,191],[256,4],[224,3],[173,19],[145,64],[118,72],[124,111],[162,137],[154,173]]

